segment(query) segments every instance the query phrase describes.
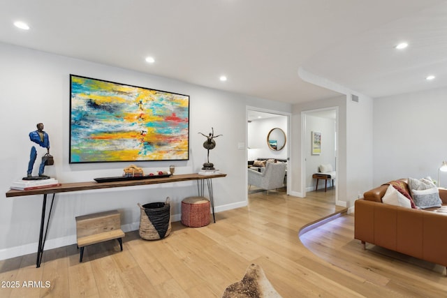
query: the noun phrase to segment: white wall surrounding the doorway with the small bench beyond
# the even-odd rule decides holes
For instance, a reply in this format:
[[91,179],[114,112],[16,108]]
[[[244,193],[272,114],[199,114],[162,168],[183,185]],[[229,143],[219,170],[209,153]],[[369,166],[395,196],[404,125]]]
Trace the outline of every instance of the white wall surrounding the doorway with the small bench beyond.
[[[359,102],[351,100],[351,95],[339,96],[327,100],[316,100],[308,103],[293,105],[292,126],[294,136],[291,152],[292,167],[300,169],[302,164],[302,138],[301,113],[327,107],[338,108],[338,151],[337,151],[337,204],[352,207],[358,197],[372,187],[372,110],[373,101],[366,96],[359,96]],[[305,162],[306,163],[306,162]],[[293,195],[305,193],[305,179],[300,170],[295,170],[292,177]]]

